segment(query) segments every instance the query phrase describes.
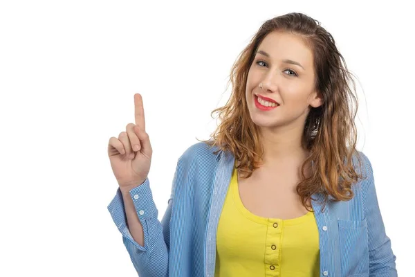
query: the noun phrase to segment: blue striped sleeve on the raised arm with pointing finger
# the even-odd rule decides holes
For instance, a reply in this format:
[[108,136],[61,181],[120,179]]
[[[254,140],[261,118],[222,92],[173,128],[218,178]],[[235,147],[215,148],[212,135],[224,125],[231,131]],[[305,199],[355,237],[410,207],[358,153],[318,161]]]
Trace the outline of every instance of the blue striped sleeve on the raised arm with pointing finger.
[[142,224],[144,247],[138,244],[129,232],[120,188],[118,188],[116,196],[107,207],[113,222],[122,234],[122,242],[139,276],[168,276],[169,222],[172,215],[175,179],[176,173],[173,181],[172,195],[161,222],[158,220],[158,210],[154,203],[148,178],[142,185],[133,188],[129,192],[136,208],[138,219]]

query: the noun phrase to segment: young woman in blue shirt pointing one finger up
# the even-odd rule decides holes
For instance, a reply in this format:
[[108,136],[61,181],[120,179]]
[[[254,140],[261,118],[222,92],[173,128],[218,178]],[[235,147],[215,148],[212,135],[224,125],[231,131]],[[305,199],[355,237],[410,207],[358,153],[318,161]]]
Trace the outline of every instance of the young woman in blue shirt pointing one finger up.
[[109,140],[108,209],[139,276],[397,276],[330,33],[301,13],[270,19],[230,80],[221,124],[178,159],[161,222],[140,94],[136,123]]

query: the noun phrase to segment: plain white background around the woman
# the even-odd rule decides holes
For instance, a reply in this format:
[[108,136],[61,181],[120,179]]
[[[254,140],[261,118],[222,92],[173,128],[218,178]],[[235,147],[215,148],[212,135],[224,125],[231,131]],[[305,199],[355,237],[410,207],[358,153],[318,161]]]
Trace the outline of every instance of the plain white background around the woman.
[[[414,22],[405,1],[1,1],[0,276],[136,276],[107,205],[107,143],[142,93],[161,219],[178,157],[208,139],[259,26],[304,12],[358,77],[358,150],[374,167],[400,276],[414,231]],[[412,210],[411,210],[412,209]]]

